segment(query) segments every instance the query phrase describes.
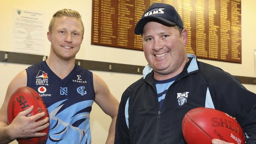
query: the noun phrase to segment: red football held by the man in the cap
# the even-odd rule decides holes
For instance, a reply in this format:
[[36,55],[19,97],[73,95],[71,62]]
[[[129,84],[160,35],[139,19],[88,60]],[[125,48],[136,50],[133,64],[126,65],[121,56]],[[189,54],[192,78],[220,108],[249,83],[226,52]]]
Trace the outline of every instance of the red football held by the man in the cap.
[[182,133],[187,144],[211,144],[213,138],[245,144],[243,129],[235,118],[206,107],[191,109],[185,114]]

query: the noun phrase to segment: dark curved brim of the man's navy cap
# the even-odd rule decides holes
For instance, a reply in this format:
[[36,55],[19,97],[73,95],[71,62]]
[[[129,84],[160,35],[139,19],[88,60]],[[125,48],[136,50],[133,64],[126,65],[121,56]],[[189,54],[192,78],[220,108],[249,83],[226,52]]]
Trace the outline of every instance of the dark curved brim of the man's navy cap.
[[165,18],[161,18],[161,17],[156,17],[156,16],[147,16],[147,17],[143,17],[141,18],[136,26],[135,26],[135,29],[134,29],[134,33],[136,35],[139,35],[143,32],[143,28],[144,26],[151,20],[158,20],[160,22],[163,22],[163,24],[167,25],[167,26],[176,26],[177,24],[174,23],[174,22],[171,22],[170,20],[167,20]]

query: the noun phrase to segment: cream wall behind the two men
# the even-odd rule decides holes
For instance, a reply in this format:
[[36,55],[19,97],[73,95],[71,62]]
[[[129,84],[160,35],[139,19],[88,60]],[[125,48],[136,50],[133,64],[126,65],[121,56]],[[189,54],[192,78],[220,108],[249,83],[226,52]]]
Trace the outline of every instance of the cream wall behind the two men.
[[[228,63],[221,61],[212,61],[199,59],[200,61],[218,66],[223,70],[236,76],[256,77],[254,63],[254,49],[256,48],[255,33],[256,27],[256,1],[242,0],[242,64]],[[52,15],[59,9],[69,8],[74,9],[82,15],[85,25],[85,35],[80,52],[77,59],[86,59],[93,61],[105,61],[112,63],[123,63],[130,65],[146,65],[147,62],[144,54],[141,51],[126,50],[121,48],[110,48],[106,46],[91,45],[91,10],[92,0],[6,0],[0,5],[0,50],[12,51],[12,10],[13,7],[42,11],[45,13],[45,55],[50,52],[50,42],[46,39],[48,23]],[[0,63],[0,106],[4,100],[7,86],[11,79],[21,70],[29,65],[18,65],[11,63]],[[100,72],[93,71],[98,76],[106,81],[111,92],[120,101],[122,92],[141,75],[136,74],[121,74],[115,72]],[[247,89],[256,93],[256,85],[244,85]],[[103,144],[107,134],[108,126],[111,118],[104,114],[100,108],[93,104],[91,112],[91,132],[92,143]],[[17,144],[17,142],[13,142]]]

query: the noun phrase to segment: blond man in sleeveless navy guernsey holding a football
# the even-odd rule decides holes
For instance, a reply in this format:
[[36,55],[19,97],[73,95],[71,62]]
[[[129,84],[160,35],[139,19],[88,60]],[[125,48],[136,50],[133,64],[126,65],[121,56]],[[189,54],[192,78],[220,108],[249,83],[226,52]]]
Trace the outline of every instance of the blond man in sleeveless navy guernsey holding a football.
[[[38,131],[49,126],[49,119],[47,144],[91,144],[89,114],[93,101],[112,118],[106,143],[113,144],[119,103],[100,77],[74,63],[83,33],[77,11],[62,9],[53,15],[47,33],[51,42],[50,57],[23,70],[9,84],[0,109],[1,144],[16,138],[46,135]],[[26,117],[34,108],[31,106],[7,125],[8,100],[13,91],[22,86],[32,87],[41,95],[50,118],[35,122],[45,113]]]

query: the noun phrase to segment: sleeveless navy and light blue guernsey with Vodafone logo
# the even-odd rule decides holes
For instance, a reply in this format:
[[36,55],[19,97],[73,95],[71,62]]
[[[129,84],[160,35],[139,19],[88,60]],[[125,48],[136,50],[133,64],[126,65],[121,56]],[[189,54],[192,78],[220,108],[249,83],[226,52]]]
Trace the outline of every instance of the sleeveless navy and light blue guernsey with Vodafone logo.
[[61,79],[45,61],[26,72],[27,86],[36,90],[48,107],[50,133],[46,144],[91,144],[89,120],[95,100],[92,72],[75,65]]

